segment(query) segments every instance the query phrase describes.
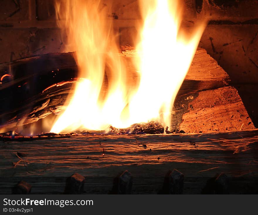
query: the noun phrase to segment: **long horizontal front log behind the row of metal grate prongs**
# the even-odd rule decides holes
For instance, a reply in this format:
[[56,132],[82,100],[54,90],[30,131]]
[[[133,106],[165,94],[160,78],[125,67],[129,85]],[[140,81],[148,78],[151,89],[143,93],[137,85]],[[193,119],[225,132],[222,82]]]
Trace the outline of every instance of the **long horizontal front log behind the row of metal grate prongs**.
[[[10,193],[25,180],[32,185],[32,194],[62,193],[66,178],[79,173],[86,178],[84,193],[107,194],[113,178],[128,170],[133,176],[132,193],[155,194],[167,171],[176,168],[185,177],[184,194],[200,193],[207,179],[220,172],[230,179],[230,193],[246,193],[252,186],[257,189],[257,141],[257,130],[1,141],[0,192]],[[20,160],[17,152],[27,156],[14,168],[12,162]]]

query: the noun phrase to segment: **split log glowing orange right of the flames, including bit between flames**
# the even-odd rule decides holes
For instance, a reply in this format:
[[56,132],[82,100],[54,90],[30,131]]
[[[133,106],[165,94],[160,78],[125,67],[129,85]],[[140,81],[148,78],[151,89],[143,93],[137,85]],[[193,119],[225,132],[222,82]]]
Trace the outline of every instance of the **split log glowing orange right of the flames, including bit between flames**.
[[[134,58],[134,50],[123,50],[127,58]],[[204,49],[198,48],[174,102],[170,132],[255,129],[237,90],[228,86],[228,81],[228,74]]]

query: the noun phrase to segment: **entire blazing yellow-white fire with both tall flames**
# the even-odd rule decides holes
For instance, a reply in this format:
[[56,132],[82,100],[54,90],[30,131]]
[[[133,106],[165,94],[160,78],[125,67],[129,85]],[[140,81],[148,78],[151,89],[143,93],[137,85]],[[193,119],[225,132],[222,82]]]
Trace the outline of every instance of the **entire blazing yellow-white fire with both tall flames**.
[[[51,132],[125,128],[150,120],[169,126],[176,94],[204,29],[200,25],[191,37],[185,35],[180,30],[180,7],[179,1],[140,0],[144,23],[134,62],[140,82],[132,89],[107,18],[108,7],[94,0],[65,1],[60,27],[67,31],[69,51],[76,50],[80,81]],[[57,14],[61,16],[60,4]],[[103,93],[105,69],[108,88]]]

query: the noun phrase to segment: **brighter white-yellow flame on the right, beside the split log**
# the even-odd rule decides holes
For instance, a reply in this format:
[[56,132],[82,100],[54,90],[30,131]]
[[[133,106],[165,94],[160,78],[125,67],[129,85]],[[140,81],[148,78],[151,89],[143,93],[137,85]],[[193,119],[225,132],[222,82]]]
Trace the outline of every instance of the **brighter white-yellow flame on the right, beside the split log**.
[[[180,1],[140,2],[145,16],[141,42],[137,46],[141,81],[130,103],[130,112],[134,113],[135,121],[146,122],[155,117],[169,126],[172,105],[190,67],[204,25],[189,37],[179,32]],[[151,111],[139,113],[136,111],[138,106]]]

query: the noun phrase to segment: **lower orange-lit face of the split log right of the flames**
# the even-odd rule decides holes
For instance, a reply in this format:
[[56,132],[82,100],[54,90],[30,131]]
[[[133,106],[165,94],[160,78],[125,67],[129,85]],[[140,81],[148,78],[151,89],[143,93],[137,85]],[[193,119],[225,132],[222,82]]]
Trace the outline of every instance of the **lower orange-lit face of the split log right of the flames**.
[[233,87],[178,96],[172,111],[172,129],[186,133],[254,129],[245,106]]

